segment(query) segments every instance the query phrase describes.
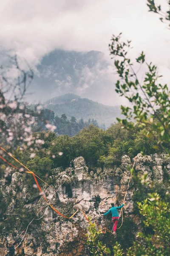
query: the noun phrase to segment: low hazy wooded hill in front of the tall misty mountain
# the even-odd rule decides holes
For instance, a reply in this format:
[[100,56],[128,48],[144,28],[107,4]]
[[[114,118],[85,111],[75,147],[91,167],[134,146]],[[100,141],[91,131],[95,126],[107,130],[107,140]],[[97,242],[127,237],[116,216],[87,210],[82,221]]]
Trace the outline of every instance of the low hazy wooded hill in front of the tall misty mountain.
[[99,125],[105,124],[106,128],[116,121],[116,117],[121,116],[119,106],[106,106],[71,93],[50,99],[44,106],[58,116],[65,113],[69,118],[75,116],[86,121],[96,119]]

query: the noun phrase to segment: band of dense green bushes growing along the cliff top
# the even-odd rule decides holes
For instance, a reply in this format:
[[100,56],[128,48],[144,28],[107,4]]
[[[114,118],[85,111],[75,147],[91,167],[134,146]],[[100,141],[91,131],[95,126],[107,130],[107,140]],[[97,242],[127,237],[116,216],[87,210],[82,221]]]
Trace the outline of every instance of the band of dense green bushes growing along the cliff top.
[[[73,123],[75,123],[75,119]],[[36,140],[43,141],[41,149],[35,150],[25,146],[15,151],[14,156],[37,175],[49,174],[52,168],[68,167],[76,157],[85,158],[89,167],[112,166],[119,164],[122,155],[130,158],[143,151],[145,154],[154,154],[157,151],[157,141],[154,137],[145,138],[146,128],[136,125],[133,131],[122,129],[120,123],[111,125],[106,131],[89,125],[73,137],[68,135],[56,136],[50,131],[35,133]],[[163,149],[159,149],[159,153]],[[30,159],[31,154],[35,158]],[[42,160],[43,159],[43,160]],[[13,162],[17,167],[19,164]]]

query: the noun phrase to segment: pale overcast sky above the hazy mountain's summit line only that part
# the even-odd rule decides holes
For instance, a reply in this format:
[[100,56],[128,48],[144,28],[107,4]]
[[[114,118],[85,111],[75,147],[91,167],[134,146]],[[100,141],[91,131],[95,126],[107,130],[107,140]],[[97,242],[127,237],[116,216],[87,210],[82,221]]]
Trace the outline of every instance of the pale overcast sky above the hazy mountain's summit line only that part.
[[[158,0],[166,4],[166,0]],[[170,31],[148,12],[147,0],[0,0],[0,46],[37,64],[60,48],[99,50],[109,57],[112,34],[132,40],[169,79]]]

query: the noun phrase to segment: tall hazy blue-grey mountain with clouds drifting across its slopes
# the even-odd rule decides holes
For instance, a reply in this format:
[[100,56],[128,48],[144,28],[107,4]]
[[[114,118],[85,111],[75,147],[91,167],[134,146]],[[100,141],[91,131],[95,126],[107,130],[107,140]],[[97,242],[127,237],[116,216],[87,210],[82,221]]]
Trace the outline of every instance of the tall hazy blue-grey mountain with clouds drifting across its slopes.
[[45,55],[36,69],[31,99],[44,101],[72,92],[102,102],[108,86],[112,87],[111,65],[98,51],[57,49]]

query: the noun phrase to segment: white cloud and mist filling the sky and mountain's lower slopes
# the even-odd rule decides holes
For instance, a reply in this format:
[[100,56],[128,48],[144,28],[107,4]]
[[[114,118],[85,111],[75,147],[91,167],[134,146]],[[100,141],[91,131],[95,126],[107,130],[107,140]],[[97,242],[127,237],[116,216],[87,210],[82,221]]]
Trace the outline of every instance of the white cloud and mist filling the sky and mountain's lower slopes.
[[[166,0],[161,4],[166,6]],[[29,91],[32,90],[29,99],[33,101],[77,93],[107,105],[124,102],[114,92],[116,76],[108,51],[112,34],[120,32],[124,39],[132,40],[130,57],[138,57],[143,50],[147,61],[158,65],[164,80],[169,82],[170,32],[158,15],[148,12],[146,0],[1,1],[0,31],[1,55],[9,51],[17,54],[21,65],[33,67],[37,77],[37,65],[55,49],[100,51],[109,62],[102,70],[99,63],[92,69],[84,67],[77,84],[71,84],[69,76],[66,81],[56,78],[55,90],[49,90],[48,84],[41,87],[37,80]]]

